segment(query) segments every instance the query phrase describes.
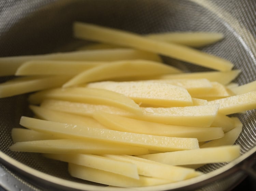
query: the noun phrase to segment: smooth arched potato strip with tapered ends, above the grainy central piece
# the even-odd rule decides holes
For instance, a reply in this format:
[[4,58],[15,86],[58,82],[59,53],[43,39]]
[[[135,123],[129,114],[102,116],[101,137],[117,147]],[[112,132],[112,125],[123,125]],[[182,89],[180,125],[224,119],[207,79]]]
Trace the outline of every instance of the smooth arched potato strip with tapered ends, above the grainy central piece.
[[63,87],[85,84],[88,82],[118,79],[122,77],[154,76],[167,73],[181,73],[172,66],[148,60],[123,60],[99,65],[82,71],[74,76]]

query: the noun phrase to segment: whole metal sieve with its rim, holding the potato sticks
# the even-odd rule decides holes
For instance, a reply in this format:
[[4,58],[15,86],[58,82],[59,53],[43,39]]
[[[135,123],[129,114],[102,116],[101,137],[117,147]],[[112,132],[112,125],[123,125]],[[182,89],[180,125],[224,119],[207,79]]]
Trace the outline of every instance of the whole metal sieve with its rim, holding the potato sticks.
[[[0,56],[72,51],[87,43],[72,37],[73,21],[84,21],[139,34],[168,31],[209,31],[225,38],[202,51],[230,60],[241,74],[240,85],[256,80],[256,1],[253,0],[9,0],[0,1]],[[167,64],[177,60],[163,57]],[[207,71],[183,62],[186,71]],[[1,77],[0,82],[12,76]],[[28,94],[0,99],[0,183],[10,190],[111,190],[108,187],[71,177],[65,162],[53,161],[37,153],[11,152],[11,129],[20,116],[31,116]],[[253,168],[256,151],[256,112],[236,115],[243,130],[235,144],[241,157],[230,163],[205,165],[206,173],[181,183],[139,190],[228,190],[247,175],[256,178]],[[11,186],[10,186],[11,185]]]

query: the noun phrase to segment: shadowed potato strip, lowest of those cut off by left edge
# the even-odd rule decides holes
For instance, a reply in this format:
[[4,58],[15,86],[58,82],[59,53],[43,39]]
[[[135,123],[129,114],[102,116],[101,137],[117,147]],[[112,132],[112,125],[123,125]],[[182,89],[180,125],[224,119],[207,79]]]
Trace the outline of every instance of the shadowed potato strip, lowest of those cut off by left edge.
[[29,76],[10,80],[0,84],[0,98],[61,87],[70,78],[70,76]]

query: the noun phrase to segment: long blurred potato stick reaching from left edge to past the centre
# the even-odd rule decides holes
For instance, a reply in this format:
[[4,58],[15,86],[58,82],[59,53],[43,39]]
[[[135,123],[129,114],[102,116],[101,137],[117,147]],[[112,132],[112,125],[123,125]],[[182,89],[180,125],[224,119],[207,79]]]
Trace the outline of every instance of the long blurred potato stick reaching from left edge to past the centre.
[[115,61],[127,59],[146,59],[161,62],[161,58],[157,54],[133,49],[86,50],[42,55],[10,56],[0,58],[0,76],[14,75],[22,63],[30,60]]

